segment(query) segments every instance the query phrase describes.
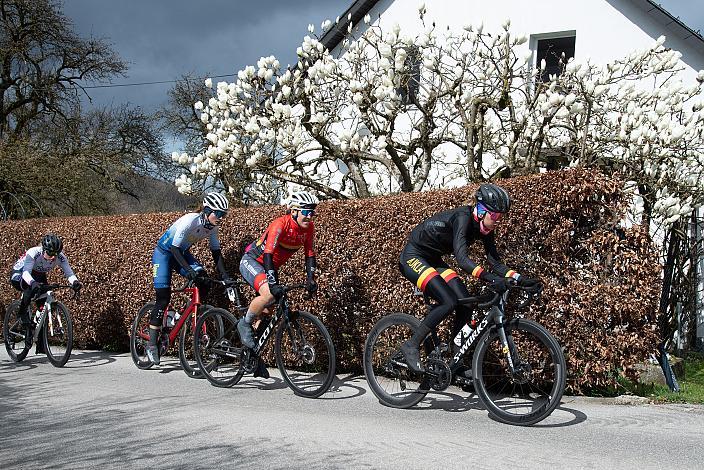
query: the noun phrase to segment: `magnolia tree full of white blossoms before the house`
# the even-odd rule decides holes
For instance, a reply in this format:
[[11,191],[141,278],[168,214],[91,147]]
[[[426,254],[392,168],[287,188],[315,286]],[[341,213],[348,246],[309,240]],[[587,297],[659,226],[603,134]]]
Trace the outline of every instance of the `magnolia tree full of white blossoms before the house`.
[[331,198],[585,165],[625,177],[648,222],[671,224],[704,202],[704,72],[683,82],[664,37],[608,64],[563,61],[543,81],[545,63],[532,66],[510,21],[453,31],[426,16],[421,6],[415,36],[366,17],[336,55],[310,25],[295,67],[263,57],[218,83],[195,103],[207,150],[174,155],[190,169],[179,189],[207,178],[233,187],[243,163],[250,178]]

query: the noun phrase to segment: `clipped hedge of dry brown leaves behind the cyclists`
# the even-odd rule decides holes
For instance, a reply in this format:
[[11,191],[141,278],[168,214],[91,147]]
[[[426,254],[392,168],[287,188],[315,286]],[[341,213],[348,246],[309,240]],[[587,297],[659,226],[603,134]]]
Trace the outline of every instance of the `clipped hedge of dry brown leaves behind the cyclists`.
[[[545,282],[542,302],[524,315],[545,325],[568,358],[573,393],[604,389],[619,374],[632,375],[656,339],[656,299],[660,266],[647,230],[618,227],[624,206],[622,183],[586,170],[565,170],[500,182],[514,208],[498,232],[507,265]],[[424,218],[466,204],[476,185],[459,189],[399,194],[320,205],[317,219],[318,295],[294,305],[318,314],[330,330],[341,371],[360,371],[366,334],[389,312],[425,314],[422,299],[402,278],[398,255],[410,230]],[[221,228],[230,273],[238,274],[244,246],[283,214],[281,206],[230,211]],[[33,219],[2,223],[0,261],[11,269],[25,249],[55,232],[85,283],[78,302],[62,297],[74,315],[76,346],[128,350],[130,324],[151,300],[152,250],[181,214]],[[472,248],[484,260],[481,244]],[[193,253],[214,272],[207,242]],[[50,279],[60,279],[56,270]],[[284,267],[283,282],[302,282],[298,253]],[[182,282],[175,276],[176,285]],[[465,276],[468,279],[468,276]],[[1,300],[17,297],[9,284]],[[468,280],[470,290],[479,283]],[[243,289],[249,300],[252,291]],[[178,299],[175,297],[175,299]],[[233,309],[222,293],[209,302]],[[448,322],[449,323],[449,322]],[[446,330],[447,325],[443,328]],[[273,349],[273,348],[270,348]],[[269,358],[271,361],[271,357]],[[273,362],[270,362],[273,363]]]

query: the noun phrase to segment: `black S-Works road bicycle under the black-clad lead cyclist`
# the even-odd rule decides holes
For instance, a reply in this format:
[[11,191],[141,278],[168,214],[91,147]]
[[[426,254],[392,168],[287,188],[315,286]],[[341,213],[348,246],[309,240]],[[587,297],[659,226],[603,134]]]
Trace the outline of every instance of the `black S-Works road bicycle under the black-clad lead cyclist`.
[[[519,287],[525,308],[542,291],[541,285]],[[558,406],[565,389],[565,357],[557,340],[540,324],[524,318],[508,319],[504,313],[509,296],[487,290],[478,297],[460,299],[459,303],[488,309],[484,318],[463,338],[452,357],[448,347],[432,331],[423,343],[425,371],[411,371],[400,351],[420,325],[417,318],[402,313],[379,320],[367,336],[364,346],[364,373],[379,401],[395,408],[409,408],[420,402],[432,389],[442,391],[453,378],[462,383],[456,372],[463,359],[472,352],[473,385],[488,412],[497,420],[515,425],[535,424]],[[433,304],[426,297],[428,309]]]

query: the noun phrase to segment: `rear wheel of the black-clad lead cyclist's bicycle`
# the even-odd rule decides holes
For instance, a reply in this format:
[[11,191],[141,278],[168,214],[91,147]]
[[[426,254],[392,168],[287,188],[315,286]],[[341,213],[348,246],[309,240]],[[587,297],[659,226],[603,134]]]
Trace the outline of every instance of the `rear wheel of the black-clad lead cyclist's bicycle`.
[[430,389],[423,374],[411,372],[401,353],[401,345],[413,336],[420,321],[405,313],[379,320],[364,344],[364,375],[369,388],[383,405],[410,408]]

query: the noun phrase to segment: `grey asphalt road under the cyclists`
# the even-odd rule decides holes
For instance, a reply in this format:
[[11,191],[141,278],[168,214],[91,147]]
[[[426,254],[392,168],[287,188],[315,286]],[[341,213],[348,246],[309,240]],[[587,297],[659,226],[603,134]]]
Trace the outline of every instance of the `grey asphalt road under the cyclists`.
[[63,369],[0,348],[0,468],[704,468],[704,407],[565,397],[530,428],[493,421],[457,388],[378,403],[364,377],[295,396],[270,369],[231,389],[167,358],[74,351]]

